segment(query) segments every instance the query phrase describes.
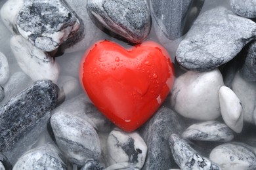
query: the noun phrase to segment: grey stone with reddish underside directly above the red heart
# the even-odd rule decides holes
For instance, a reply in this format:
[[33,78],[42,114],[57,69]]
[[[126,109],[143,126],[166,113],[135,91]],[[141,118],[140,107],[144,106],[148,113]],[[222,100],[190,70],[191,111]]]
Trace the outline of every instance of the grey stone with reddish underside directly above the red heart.
[[145,0],[89,0],[87,10],[104,27],[133,43],[150,32],[150,9]]

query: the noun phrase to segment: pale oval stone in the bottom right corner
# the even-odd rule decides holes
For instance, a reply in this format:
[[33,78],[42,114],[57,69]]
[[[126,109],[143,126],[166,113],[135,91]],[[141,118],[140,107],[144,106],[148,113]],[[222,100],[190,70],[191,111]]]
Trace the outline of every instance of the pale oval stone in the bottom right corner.
[[221,144],[211,151],[209,158],[225,170],[256,169],[256,155],[245,144]]

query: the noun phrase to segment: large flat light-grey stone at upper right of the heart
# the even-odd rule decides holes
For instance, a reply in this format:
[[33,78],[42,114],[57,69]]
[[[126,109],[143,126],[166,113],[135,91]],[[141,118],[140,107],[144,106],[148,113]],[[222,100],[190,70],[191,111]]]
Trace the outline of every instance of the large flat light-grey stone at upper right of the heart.
[[176,59],[187,69],[209,71],[234,58],[255,34],[255,22],[216,7],[198,16],[179,44]]

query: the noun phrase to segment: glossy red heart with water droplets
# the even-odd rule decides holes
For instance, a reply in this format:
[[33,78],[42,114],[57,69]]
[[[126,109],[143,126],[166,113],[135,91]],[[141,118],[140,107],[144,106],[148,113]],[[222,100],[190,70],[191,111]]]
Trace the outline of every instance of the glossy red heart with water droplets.
[[125,50],[100,41],[85,52],[79,76],[98,110],[124,131],[133,131],[163,103],[174,70],[168,52],[156,42]]

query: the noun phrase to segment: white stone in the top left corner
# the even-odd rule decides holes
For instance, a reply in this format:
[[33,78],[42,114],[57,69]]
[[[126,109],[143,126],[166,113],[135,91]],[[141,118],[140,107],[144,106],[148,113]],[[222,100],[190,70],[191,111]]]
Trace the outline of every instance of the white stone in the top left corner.
[[5,26],[14,33],[14,24],[18,11],[22,8],[24,0],[8,0],[1,8],[0,14]]

